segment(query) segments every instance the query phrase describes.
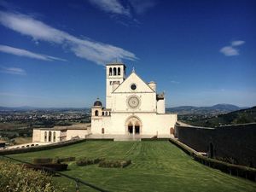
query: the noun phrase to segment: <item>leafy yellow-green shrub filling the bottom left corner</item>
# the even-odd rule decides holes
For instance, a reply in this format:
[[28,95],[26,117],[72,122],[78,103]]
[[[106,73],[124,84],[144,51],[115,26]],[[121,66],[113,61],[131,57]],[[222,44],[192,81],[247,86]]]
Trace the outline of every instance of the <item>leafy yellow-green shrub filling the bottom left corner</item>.
[[0,161],[0,190],[22,192],[55,192],[65,191],[52,182],[52,177],[45,172],[35,172],[25,166],[10,161]]

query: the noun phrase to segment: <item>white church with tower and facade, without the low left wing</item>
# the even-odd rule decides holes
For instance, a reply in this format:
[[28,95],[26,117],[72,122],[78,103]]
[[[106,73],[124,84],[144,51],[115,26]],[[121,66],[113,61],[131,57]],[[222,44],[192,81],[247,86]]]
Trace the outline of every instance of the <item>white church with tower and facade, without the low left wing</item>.
[[91,108],[92,135],[171,136],[177,114],[166,114],[164,93],[146,84],[133,70],[125,79],[125,65],[107,64],[106,108]]

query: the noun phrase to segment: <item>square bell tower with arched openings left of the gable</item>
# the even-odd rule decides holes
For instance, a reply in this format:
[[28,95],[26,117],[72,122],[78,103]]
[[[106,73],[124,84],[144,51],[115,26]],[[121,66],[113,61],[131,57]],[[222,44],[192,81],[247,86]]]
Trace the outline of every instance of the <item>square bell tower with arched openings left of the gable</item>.
[[125,68],[120,62],[106,65],[106,108],[112,108],[112,92],[125,80]]

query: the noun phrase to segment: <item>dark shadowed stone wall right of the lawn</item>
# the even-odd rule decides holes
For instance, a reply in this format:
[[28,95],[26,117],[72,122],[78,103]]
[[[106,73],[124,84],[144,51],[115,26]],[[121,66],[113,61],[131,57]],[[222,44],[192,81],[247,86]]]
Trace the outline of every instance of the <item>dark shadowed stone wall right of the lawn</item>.
[[256,167],[256,124],[207,128],[177,123],[175,137],[209,157]]

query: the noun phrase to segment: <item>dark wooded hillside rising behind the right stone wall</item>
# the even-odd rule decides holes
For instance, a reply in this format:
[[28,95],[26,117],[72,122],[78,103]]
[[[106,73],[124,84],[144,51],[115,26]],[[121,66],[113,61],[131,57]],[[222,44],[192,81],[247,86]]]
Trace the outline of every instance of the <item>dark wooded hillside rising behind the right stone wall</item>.
[[193,121],[186,121],[190,125],[198,126],[219,126],[219,125],[236,125],[256,122],[256,106],[253,108],[241,109],[238,111],[219,114],[217,117],[204,118]]

